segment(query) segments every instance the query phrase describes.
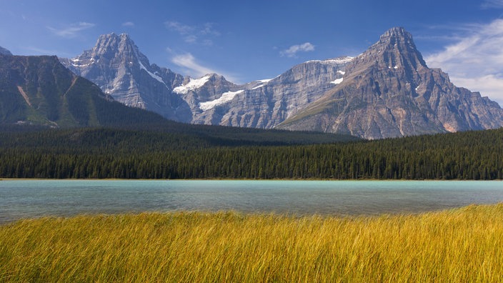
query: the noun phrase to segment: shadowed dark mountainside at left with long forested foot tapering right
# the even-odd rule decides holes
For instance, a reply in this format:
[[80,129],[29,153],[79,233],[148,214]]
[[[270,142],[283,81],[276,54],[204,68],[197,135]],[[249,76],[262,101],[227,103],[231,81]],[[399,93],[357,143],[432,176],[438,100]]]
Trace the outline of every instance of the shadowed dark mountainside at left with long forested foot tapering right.
[[[22,126],[18,126],[22,125]],[[31,126],[26,126],[31,125]],[[152,111],[125,106],[91,81],[65,68],[56,56],[0,54],[0,132],[50,128],[118,128],[131,135],[166,133],[180,144],[286,145],[354,141],[354,136],[278,131],[169,121]],[[79,129],[75,130],[79,133]],[[101,132],[101,131],[100,131]],[[110,133],[102,131],[101,139]],[[142,135],[140,133],[140,135]],[[78,135],[78,134],[76,134]],[[153,134],[156,136],[156,134]],[[100,142],[100,138],[92,140]],[[39,140],[34,141],[39,144]],[[57,142],[57,141],[54,141]],[[147,141],[148,142],[148,141]]]

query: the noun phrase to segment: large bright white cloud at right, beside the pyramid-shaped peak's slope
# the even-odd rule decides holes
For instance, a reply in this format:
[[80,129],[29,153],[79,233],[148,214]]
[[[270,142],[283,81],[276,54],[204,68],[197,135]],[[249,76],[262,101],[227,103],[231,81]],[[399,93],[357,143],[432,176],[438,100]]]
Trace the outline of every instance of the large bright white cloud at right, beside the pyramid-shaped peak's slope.
[[[502,1],[503,2],[503,1]],[[441,68],[457,86],[480,91],[503,105],[503,20],[471,25],[464,38],[424,57]]]

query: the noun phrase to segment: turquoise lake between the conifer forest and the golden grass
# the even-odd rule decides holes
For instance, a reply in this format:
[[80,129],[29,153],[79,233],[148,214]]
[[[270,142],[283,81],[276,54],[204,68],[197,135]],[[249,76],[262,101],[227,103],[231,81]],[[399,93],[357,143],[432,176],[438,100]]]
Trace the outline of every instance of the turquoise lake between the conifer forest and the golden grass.
[[375,215],[497,202],[503,202],[499,181],[0,181],[0,223],[180,210]]

